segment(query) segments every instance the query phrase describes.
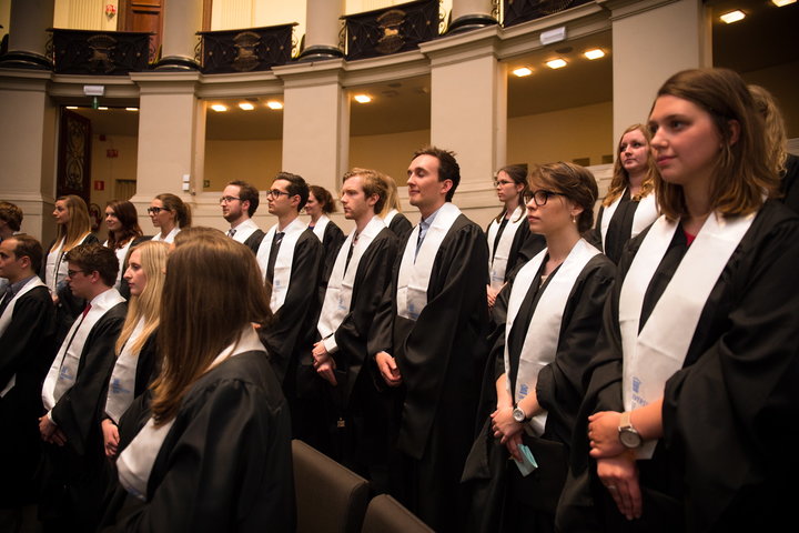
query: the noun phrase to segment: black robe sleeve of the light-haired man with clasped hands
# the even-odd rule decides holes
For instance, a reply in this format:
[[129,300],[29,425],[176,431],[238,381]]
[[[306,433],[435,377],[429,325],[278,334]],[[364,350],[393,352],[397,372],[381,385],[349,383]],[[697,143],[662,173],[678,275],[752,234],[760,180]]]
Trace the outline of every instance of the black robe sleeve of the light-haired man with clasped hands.
[[361,369],[368,361],[367,336],[383,291],[390,284],[396,252],[396,238],[386,228],[372,241],[358,263],[350,313],[335,331],[338,351],[333,358],[337,369],[347,375],[345,398],[350,398]]

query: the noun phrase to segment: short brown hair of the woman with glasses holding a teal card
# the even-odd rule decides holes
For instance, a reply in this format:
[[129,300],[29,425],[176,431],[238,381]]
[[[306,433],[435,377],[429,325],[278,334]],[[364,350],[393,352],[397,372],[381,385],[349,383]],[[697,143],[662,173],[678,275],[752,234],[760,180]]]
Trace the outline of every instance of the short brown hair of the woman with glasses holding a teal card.
[[594,225],[594,204],[599,191],[596,179],[585,167],[574,163],[547,163],[533,168],[529,177],[529,189],[538,188],[559,192],[575,205],[583,208],[577,217],[577,231],[588,231]]

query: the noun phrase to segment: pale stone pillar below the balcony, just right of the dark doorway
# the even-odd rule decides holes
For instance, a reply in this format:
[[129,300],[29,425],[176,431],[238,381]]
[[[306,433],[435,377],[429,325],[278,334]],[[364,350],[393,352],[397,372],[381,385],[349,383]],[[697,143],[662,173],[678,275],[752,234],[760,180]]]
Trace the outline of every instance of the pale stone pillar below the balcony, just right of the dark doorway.
[[[199,124],[201,102],[195,95],[199,72],[136,72],[131,79],[140,88],[139,155],[136,193],[132,201],[139,210],[139,223],[152,233],[146,208],[156,194],[171,192],[194,207],[194,192],[202,190],[202,169],[196,159],[204,139]],[[190,190],[183,190],[183,175],[190,177]]]

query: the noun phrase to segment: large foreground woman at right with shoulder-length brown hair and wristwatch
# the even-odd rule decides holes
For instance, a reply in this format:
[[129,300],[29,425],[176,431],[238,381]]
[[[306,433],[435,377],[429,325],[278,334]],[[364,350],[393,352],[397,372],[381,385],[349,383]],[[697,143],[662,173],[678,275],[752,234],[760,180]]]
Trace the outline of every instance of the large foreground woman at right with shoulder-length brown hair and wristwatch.
[[649,129],[663,214],[619,261],[558,526],[783,530],[799,473],[799,219],[771,200],[768,137],[734,71],[674,74]]

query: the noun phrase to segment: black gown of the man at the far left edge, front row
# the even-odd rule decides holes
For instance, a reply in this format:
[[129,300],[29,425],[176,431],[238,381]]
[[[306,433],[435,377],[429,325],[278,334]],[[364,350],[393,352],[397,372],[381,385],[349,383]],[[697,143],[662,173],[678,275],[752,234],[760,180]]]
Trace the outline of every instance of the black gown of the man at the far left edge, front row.
[[31,480],[40,456],[41,386],[55,355],[55,308],[45,286],[14,303],[0,336],[0,388],[12,375],[16,385],[0,399],[0,509],[33,499]]

